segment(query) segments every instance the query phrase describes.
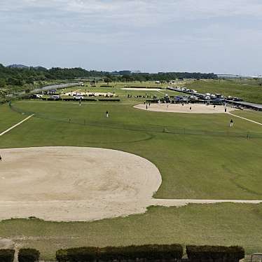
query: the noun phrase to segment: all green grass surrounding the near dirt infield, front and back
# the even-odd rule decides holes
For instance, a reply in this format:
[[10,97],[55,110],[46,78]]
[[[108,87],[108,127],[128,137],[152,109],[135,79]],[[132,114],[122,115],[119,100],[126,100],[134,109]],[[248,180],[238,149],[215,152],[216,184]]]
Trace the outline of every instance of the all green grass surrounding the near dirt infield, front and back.
[[[247,131],[260,134],[260,125],[223,113],[200,115],[134,109],[133,105],[143,99],[127,99],[125,90],[114,90],[120,103],[90,102],[79,106],[77,102],[14,102],[14,106],[36,116],[0,137],[0,149],[29,146],[118,149],[142,156],[158,167],[163,184],[156,198],[262,199],[259,150],[262,138],[244,136]],[[26,117],[8,105],[0,106],[0,111],[0,130]],[[105,118],[106,111],[109,118]],[[260,112],[235,113],[262,120]],[[228,127],[230,118],[235,123],[232,129]],[[186,132],[167,133],[163,127]],[[189,130],[195,135],[187,135]],[[200,130],[209,132],[198,135]],[[218,135],[219,132],[223,135]],[[153,242],[241,244],[250,253],[262,251],[261,212],[261,205],[217,204],[151,207],[146,214],[91,223],[11,219],[0,222],[0,236],[37,247],[44,258],[53,258],[60,247]]]

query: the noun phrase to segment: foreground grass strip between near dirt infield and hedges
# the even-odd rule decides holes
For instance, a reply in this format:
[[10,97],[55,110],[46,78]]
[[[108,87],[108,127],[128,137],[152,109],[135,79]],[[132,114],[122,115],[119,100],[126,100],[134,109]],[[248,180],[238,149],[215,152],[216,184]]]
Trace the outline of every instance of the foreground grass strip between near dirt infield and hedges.
[[11,219],[0,222],[0,235],[39,249],[47,260],[60,248],[151,243],[237,244],[251,254],[262,251],[261,219],[261,205],[150,207],[146,214],[89,223]]

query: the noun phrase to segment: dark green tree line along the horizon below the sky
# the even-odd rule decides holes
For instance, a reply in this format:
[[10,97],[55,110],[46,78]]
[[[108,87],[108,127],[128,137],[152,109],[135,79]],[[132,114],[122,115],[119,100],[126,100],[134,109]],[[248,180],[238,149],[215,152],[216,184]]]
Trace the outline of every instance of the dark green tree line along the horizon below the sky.
[[35,81],[67,80],[76,78],[103,78],[106,83],[112,81],[170,81],[177,78],[216,79],[216,74],[188,72],[132,73],[131,71],[95,71],[82,68],[51,68],[44,67],[4,67],[0,64],[0,88],[6,85],[23,86],[34,84]]

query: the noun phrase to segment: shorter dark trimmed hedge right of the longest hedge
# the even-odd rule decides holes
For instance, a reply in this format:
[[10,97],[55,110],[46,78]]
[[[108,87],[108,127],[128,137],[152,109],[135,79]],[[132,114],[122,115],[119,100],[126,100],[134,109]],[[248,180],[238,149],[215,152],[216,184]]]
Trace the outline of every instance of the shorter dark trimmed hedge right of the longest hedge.
[[244,258],[244,249],[237,246],[187,246],[186,254],[192,262],[238,262]]

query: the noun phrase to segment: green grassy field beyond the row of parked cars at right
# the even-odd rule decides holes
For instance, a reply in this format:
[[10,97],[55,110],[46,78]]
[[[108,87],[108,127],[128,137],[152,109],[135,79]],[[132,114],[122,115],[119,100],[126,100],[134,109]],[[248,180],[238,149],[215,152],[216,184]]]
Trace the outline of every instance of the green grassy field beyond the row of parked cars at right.
[[230,95],[241,97],[247,102],[262,104],[262,86],[257,81],[235,81],[235,80],[202,80],[187,84],[191,89],[198,92],[210,92],[212,94]]

